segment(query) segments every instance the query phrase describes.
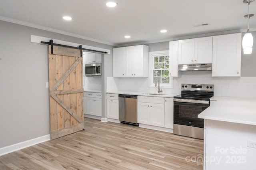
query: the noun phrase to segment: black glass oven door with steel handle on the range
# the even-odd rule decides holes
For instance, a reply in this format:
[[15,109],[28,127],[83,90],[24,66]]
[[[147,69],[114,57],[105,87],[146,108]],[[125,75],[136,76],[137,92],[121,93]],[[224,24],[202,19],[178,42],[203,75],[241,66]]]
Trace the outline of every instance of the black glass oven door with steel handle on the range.
[[198,114],[210,106],[210,101],[174,99],[174,124],[204,128]]

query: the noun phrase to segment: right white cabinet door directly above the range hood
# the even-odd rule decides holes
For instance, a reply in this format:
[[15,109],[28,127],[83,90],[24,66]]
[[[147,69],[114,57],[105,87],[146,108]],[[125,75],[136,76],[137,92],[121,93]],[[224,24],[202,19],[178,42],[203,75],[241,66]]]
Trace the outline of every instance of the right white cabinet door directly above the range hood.
[[194,63],[212,63],[212,37],[195,38]]

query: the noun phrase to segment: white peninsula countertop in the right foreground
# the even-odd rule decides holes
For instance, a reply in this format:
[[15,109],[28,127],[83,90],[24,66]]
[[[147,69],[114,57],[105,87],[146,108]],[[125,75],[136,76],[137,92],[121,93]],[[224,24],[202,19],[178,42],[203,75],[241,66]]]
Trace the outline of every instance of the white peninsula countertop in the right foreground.
[[256,125],[256,98],[214,96],[210,100],[210,107],[198,118]]

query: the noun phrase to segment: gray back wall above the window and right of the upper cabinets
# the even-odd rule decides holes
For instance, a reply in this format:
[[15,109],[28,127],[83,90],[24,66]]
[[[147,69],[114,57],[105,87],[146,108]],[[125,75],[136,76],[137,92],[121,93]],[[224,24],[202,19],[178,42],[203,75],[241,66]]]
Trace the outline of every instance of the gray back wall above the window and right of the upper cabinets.
[[[244,54],[242,49],[241,77],[256,77],[256,31],[251,32],[254,39],[252,54]],[[245,33],[242,33],[242,38]],[[149,43],[149,51],[169,50],[169,42]],[[241,46],[242,48],[242,46]]]

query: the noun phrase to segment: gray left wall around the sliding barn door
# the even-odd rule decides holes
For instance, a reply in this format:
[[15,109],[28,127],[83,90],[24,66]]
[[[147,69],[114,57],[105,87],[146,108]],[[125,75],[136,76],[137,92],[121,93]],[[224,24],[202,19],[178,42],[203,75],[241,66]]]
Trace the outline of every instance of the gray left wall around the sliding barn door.
[[[0,21],[0,148],[50,134],[49,94],[46,88],[47,45],[30,42],[31,34],[113,48],[111,45]],[[105,62],[111,61],[112,54]]]

